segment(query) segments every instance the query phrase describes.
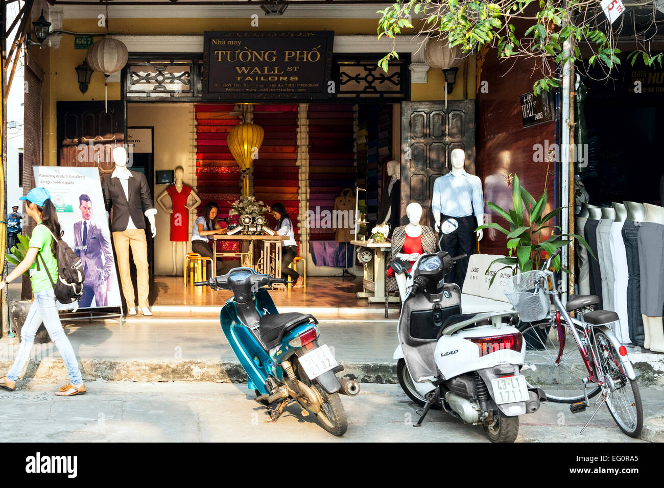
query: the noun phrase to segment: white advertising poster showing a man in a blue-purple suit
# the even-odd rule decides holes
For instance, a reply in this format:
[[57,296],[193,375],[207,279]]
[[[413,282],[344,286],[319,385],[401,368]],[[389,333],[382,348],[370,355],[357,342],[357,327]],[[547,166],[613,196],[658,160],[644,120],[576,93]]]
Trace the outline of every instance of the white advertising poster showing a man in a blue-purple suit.
[[80,256],[85,283],[78,307],[121,307],[120,287],[97,168],[35,166],[35,186],[50,193],[62,238]]

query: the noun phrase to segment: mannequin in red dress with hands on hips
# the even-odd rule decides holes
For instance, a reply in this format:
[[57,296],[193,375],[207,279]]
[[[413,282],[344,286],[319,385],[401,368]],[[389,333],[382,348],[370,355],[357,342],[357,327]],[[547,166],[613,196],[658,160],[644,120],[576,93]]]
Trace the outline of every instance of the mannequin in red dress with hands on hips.
[[[191,187],[184,185],[182,179],[185,175],[183,167],[175,168],[175,184],[171,185],[159,197],[157,203],[164,212],[171,214],[171,242],[173,243],[173,276],[177,275],[177,243],[182,242],[182,263],[184,266],[185,256],[187,256],[187,242],[189,238],[189,212],[201,204],[201,199]],[[193,197],[193,205],[187,206],[189,197]],[[163,203],[165,197],[170,197],[171,207],[168,208]]]

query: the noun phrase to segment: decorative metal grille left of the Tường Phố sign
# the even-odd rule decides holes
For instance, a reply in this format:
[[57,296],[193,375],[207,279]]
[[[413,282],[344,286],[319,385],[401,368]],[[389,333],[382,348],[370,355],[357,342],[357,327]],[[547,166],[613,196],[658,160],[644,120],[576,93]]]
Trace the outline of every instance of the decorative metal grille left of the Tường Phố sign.
[[126,70],[128,100],[200,98],[201,65],[194,59],[132,59]]

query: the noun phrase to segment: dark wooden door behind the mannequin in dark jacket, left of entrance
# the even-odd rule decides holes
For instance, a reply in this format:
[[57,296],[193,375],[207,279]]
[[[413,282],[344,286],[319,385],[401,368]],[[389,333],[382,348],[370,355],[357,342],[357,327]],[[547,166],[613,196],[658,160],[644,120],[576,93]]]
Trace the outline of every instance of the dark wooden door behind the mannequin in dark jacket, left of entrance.
[[115,168],[113,149],[124,147],[124,104],[58,102],[58,166],[98,167],[100,178]]

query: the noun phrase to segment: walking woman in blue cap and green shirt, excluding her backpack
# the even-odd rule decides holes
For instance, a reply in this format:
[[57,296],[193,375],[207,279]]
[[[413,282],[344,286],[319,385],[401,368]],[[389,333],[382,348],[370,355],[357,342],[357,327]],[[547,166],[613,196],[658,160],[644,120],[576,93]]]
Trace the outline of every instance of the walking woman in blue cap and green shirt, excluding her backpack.
[[[43,322],[50,339],[60,351],[69,375],[69,383],[62,386],[55,394],[58,396],[73,396],[85,393],[86,388],[83,384],[80,369],[78,369],[76,355],[62,329],[62,323],[60,323],[60,317],[56,309],[55,292],[48,278],[48,274],[50,274],[53,282],[58,281],[58,262],[55,258],[56,244],[52,238],[52,235],[60,236],[58,215],[50,201],[50,193],[44,188],[33,188],[26,197],[21,197],[20,200],[26,201],[26,213],[37,222],[37,226],[33,229],[30,247],[25,254],[25,259],[18,264],[13,272],[7,275],[7,278],[0,282],[0,290],[13,280],[21,278],[21,275],[27,270],[31,270],[30,282],[35,294],[35,301],[33,301],[23,324],[23,329],[21,329],[21,346],[14,365],[7,372],[7,376],[0,378],[0,387],[10,391],[16,387],[19,374],[23,372],[23,368],[30,359],[30,352],[35,342],[35,333]],[[41,254],[43,261],[38,258],[37,254]],[[35,266],[37,259],[40,262],[39,270]]]

